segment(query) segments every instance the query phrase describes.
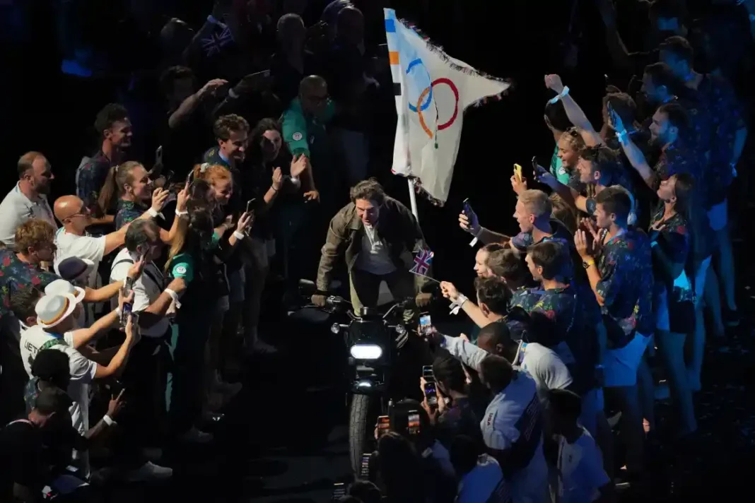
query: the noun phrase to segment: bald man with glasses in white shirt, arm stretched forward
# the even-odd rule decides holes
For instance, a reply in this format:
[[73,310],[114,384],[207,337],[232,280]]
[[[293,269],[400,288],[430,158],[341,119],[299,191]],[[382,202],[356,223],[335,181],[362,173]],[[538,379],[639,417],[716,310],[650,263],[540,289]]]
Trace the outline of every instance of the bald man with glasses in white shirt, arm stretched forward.
[[[124,225],[116,232],[108,235],[93,238],[86,234],[87,225],[92,222],[91,213],[84,201],[75,195],[64,195],[57,198],[54,204],[55,218],[60,220],[63,228],[60,228],[55,235],[55,244],[57,245],[57,254],[55,256],[55,265],[57,265],[69,256],[77,256],[79,259],[88,259],[94,262],[89,275],[87,286],[94,288],[97,286],[97,268],[103,256],[117,250],[123,245],[126,237],[128,225]],[[146,211],[140,219],[149,218],[150,213]]]

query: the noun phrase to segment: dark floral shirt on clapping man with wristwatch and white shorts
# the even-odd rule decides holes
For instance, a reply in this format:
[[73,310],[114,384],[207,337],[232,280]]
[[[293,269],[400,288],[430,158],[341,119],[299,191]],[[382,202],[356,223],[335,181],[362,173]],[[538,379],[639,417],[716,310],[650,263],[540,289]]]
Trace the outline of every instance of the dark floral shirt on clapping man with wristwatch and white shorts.
[[654,279],[647,236],[634,229],[615,235],[603,244],[596,264],[600,281],[595,290],[603,299],[609,348],[623,348],[635,331],[650,335],[655,328],[649,287]]

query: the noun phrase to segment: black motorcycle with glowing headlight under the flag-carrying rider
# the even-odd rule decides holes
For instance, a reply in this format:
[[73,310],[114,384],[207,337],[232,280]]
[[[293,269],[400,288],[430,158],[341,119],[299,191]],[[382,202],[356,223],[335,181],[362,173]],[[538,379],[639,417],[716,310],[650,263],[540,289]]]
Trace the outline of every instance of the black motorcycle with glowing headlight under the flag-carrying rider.
[[[311,281],[300,281],[303,294],[315,290]],[[412,301],[393,302],[384,314],[381,309],[365,307],[354,313],[351,302],[339,296],[328,296],[326,301],[326,311],[348,317],[348,323],[332,324],[331,333],[343,336],[349,354],[349,457],[356,476],[362,455],[374,450],[377,417],[388,416],[394,401],[419,398],[417,383],[422,364],[427,362],[414,351],[421,341],[414,337],[411,339],[417,342],[410,342],[413,329],[402,319],[404,308]]]

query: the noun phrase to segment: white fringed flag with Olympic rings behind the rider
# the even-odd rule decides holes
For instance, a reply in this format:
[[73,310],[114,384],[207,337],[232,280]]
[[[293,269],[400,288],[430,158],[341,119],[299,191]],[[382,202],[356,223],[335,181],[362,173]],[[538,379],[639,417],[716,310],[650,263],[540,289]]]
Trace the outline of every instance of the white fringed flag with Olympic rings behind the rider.
[[396,112],[393,173],[414,177],[436,204],[445,203],[461,140],[464,110],[499,97],[507,81],[482,75],[433,46],[384,9]]

